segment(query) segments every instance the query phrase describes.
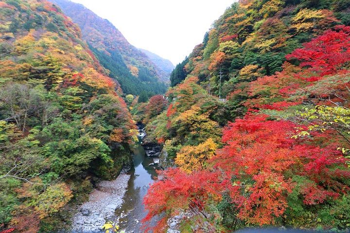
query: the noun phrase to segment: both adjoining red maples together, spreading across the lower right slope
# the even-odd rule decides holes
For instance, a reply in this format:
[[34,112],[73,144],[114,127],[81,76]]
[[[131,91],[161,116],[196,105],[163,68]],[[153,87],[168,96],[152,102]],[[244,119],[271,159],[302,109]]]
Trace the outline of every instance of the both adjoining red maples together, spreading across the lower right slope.
[[[155,183],[145,199],[150,211],[146,220],[162,211],[191,209],[193,202],[204,210],[209,198],[220,201],[228,193],[238,219],[269,225],[278,217],[292,220],[285,213],[294,208],[290,198],[295,192],[305,209],[349,192],[350,172],[340,151],[332,145],[310,145],[307,138],[296,141],[292,138],[296,125],[266,117],[246,116],[229,124],[224,129],[225,146],[210,159],[212,169],[163,173],[164,180]],[[187,150],[196,149],[183,148],[180,153],[191,155]],[[180,154],[176,159],[181,158]]]

